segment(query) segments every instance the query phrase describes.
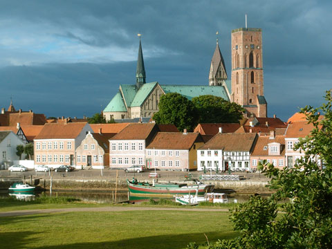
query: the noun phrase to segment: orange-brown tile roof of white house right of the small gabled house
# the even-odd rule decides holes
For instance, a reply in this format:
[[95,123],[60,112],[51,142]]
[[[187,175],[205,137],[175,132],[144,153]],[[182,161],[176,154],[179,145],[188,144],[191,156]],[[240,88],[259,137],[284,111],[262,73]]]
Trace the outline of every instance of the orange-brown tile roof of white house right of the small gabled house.
[[111,140],[145,140],[149,137],[153,129],[158,131],[158,127],[154,123],[131,123],[117,133],[116,136],[113,136]]

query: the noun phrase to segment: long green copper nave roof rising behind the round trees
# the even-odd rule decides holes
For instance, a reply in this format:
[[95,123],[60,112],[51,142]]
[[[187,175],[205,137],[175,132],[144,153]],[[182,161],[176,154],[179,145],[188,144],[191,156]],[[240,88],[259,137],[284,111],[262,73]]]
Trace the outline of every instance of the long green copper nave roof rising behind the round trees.
[[200,95],[214,95],[230,101],[223,86],[162,85],[161,88],[165,93],[180,93],[188,100]]

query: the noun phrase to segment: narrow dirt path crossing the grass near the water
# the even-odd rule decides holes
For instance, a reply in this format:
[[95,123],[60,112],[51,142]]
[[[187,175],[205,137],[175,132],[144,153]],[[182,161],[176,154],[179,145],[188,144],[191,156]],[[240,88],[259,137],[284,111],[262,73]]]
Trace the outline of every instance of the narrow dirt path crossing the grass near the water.
[[124,211],[185,211],[185,212],[228,212],[228,209],[210,208],[151,208],[151,207],[107,207],[107,208],[57,208],[44,210],[19,210],[0,212],[0,217],[45,214],[53,212],[124,212]]

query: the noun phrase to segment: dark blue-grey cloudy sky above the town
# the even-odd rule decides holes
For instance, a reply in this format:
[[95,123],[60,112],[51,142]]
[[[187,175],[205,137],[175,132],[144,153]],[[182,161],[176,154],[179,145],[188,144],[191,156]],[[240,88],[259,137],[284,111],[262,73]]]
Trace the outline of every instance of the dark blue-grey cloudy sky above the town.
[[139,39],[147,82],[208,85],[219,31],[261,28],[268,116],[319,107],[332,88],[332,1],[0,0],[0,106],[91,117],[135,84]]

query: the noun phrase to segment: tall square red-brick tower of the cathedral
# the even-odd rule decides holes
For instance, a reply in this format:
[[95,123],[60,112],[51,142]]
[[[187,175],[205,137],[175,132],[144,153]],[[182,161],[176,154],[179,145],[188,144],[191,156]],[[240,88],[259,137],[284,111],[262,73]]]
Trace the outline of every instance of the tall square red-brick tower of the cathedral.
[[261,28],[232,30],[231,100],[247,110],[247,116],[266,118]]

